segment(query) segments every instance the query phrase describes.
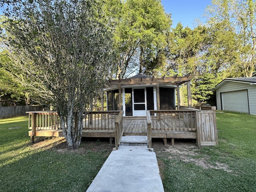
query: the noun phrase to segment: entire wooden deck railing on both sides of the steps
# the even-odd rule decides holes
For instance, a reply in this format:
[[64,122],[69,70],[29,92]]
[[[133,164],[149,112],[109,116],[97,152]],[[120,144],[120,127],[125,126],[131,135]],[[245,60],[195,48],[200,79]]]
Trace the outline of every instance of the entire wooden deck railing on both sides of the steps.
[[[50,132],[61,130],[58,113],[52,111],[28,113],[28,128],[32,129],[31,139],[36,136],[36,130],[49,130]],[[84,132],[88,132],[88,130],[92,130],[92,132],[111,132],[113,133],[111,138],[115,136],[116,148],[118,148],[124,132],[123,113],[123,111],[88,112],[83,120],[83,129],[86,130]],[[166,138],[171,138],[168,133],[173,133],[173,131],[196,131],[197,143],[200,146],[218,144],[215,110],[149,110],[146,112],[146,118],[149,148],[152,146],[151,138],[153,134],[166,133]]]

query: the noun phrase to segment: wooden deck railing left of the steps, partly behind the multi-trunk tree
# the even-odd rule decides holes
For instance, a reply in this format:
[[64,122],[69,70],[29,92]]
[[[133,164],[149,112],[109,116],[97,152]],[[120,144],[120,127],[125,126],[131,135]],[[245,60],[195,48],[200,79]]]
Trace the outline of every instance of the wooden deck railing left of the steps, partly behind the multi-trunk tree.
[[[36,130],[61,130],[60,117],[53,111],[33,111],[29,113],[28,128],[32,130],[31,141],[36,136]],[[124,111],[90,111],[84,116],[83,130],[115,131],[116,148],[120,144],[123,127]],[[75,126],[77,124],[75,116]]]

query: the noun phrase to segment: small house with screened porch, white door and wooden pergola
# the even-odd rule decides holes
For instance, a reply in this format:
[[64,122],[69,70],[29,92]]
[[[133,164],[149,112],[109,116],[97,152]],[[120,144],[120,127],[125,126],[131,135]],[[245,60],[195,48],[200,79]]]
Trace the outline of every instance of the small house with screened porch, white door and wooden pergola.
[[[162,78],[137,74],[127,79],[109,80],[104,89],[107,110],[124,110],[124,116],[146,116],[146,110],[176,110],[176,94],[179,95],[179,86],[186,82],[188,106],[191,107],[191,78],[190,74]],[[179,109],[179,101],[177,103]]]

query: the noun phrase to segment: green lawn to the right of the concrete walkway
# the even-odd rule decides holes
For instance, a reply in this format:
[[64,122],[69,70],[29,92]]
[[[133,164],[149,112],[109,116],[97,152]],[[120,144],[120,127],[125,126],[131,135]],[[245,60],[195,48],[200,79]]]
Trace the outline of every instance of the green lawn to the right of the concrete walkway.
[[194,155],[156,151],[166,192],[256,190],[256,116],[217,113],[216,123],[218,146],[195,146]]

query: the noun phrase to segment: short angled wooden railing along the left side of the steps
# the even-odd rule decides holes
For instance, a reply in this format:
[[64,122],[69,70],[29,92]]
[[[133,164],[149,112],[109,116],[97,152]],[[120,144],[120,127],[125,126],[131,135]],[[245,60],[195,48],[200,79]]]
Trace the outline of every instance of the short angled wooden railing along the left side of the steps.
[[118,149],[120,142],[121,142],[121,138],[124,133],[123,115],[124,115],[124,111],[120,111],[118,114],[118,117],[115,120],[115,146],[116,146],[116,149]]

